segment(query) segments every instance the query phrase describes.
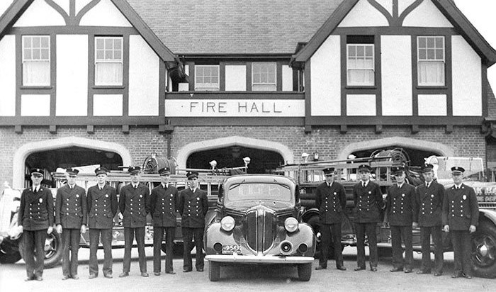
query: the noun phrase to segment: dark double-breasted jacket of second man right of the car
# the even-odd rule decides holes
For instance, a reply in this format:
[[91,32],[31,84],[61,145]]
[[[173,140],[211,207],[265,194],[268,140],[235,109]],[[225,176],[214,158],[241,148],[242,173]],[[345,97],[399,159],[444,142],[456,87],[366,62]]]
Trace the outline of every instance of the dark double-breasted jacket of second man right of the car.
[[368,181],[363,187],[361,181],[353,186],[353,199],[355,203],[355,223],[379,222],[380,210],[383,208],[383,194],[381,187],[373,181]]

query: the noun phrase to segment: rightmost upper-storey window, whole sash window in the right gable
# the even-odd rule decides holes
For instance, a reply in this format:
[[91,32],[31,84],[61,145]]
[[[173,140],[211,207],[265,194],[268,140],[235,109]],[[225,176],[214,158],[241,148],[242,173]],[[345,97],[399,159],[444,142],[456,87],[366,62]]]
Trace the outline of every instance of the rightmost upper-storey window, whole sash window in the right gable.
[[444,37],[417,37],[419,86],[444,86]]

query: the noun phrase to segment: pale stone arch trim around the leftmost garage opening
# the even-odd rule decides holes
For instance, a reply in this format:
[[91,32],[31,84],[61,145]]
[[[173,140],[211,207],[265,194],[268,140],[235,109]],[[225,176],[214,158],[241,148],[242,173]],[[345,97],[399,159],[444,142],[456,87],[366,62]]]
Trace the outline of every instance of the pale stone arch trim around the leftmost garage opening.
[[[86,139],[81,137],[63,137],[59,139],[52,140],[43,140],[39,142],[30,142],[22,145],[18,148],[18,150],[14,153],[13,156],[13,187],[15,188],[23,188],[26,185],[26,163],[33,162],[33,159],[43,159],[43,155],[33,155],[37,152],[50,152],[54,150],[63,150],[63,149],[72,149],[77,150],[79,148],[83,148],[86,150],[81,150],[82,152],[90,151],[91,153],[103,153],[103,155],[107,156],[106,153],[113,153],[114,157],[120,157],[122,164],[120,165],[131,165],[133,164],[133,158],[129,150],[120,145],[118,143],[113,142],[105,142],[100,140]],[[53,152],[52,152],[53,153]],[[61,152],[60,152],[61,153]],[[71,155],[70,151],[69,154]],[[60,154],[62,156],[62,154]],[[78,156],[77,153],[74,153],[74,156]],[[86,155],[85,155],[86,156]],[[111,156],[110,154],[108,156]],[[38,157],[38,158],[37,158]],[[28,159],[29,158],[29,159]],[[61,162],[64,160],[61,159]],[[66,160],[68,161],[68,160]],[[77,159],[73,159],[74,163],[80,163]],[[69,162],[64,162],[69,164]],[[113,162],[115,163],[115,162]],[[98,163],[100,164],[100,163]],[[31,165],[30,165],[31,166]],[[32,165],[33,167],[43,167],[43,165]],[[74,165],[72,165],[74,166]],[[60,166],[57,166],[60,167]],[[56,167],[55,167],[56,169]],[[52,169],[51,171],[55,171]],[[113,168],[112,168],[113,169]]]

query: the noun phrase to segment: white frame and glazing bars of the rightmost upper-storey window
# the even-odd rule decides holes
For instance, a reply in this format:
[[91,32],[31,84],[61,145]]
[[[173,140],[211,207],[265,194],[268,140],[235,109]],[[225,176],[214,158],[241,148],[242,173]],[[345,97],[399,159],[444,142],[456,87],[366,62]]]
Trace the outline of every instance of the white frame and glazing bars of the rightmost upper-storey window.
[[[434,39],[434,47],[429,47],[429,42],[426,41],[426,47],[420,47],[421,39]],[[442,47],[437,47],[436,39],[442,40]],[[442,58],[437,57],[436,50],[443,50]],[[420,51],[425,50],[425,57],[420,58]],[[429,57],[429,50],[433,50],[434,58]],[[442,64],[442,69],[440,72],[442,74],[439,79],[442,79],[440,82],[422,82],[422,63],[436,62],[437,64]],[[419,35],[417,36],[417,84],[419,86],[444,86],[446,84],[446,40],[442,35]]]

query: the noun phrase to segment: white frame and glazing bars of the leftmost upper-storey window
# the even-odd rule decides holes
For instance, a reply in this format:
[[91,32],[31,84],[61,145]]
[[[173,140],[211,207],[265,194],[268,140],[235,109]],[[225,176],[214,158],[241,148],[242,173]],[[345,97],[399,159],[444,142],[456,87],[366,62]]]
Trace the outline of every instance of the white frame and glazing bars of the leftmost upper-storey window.
[[[35,38],[40,39],[40,45],[37,47],[34,47],[34,42],[33,40]],[[30,47],[26,47],[27,41],[30,39]],[[44,47],[42,45],[42,40],[45,39],[47,40],[47,47]],[[42,52],[46,50],[46,56],[43,57]],[[28,57],[28,52],[29,52],[29,57]],[[38,57],[34,57],[35,52],[37,52],[36,55]],[[51,62],[50,62],[50,35],[23,35],[22,37],[22,62],[23,62],[23,86],[50,86],[51,85]],[[28,69],[30,67],[30,64],[34,65],[43,65],[42,63],[45,63],[45,80],[41,80],[39,82],[36,81],[31,81],[33,79],[32,75],[29,75],[30,70]],[[33,68],[34,69],[34,68]],[[31,74],[35,74],[35,72],[31,72]],[[31,78],[30,78],[31,77]]]

